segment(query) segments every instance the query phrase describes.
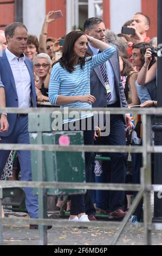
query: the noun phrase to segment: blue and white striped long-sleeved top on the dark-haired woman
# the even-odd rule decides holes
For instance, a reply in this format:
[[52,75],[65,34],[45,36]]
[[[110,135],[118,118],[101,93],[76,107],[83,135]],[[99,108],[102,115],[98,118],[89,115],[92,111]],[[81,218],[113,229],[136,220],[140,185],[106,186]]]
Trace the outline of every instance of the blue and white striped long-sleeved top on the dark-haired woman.
[[[68,72],[66,68],[62,68],[60,63],[56,63],[51,71],[49,82],[48,96],[51,105],[56,105],[57,97],[59,95],[82,96],[90,94],[90,70],[106,62],[112,57],[115,51],[115,48],[111,46],[98,55],[87,57],[83,69],[81,69],[80,64],[76,65],[75,70],[72,73]],[[92,108],[92,105],[78,101],[67,105],[61,105],[61,107]],[[88,114],[85,112],[84,114],[80,114],[80,118],[63,120],[63,124],[68,123],[69,121],[87,118],[92,115],[92,113]]]

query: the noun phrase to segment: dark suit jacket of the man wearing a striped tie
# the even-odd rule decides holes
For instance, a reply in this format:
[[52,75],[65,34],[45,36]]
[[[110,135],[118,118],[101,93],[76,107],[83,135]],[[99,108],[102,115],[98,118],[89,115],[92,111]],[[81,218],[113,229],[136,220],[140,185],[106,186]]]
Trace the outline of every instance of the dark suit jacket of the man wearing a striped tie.
[[[116,48],[114,45],[113,47]],[[93,54],[89,47],[88,52]],[[109,62],[111,63],[114,71],[114,82],[116,94],[119,99],[119,107],[126,108],[128,105],[124,93],[124,88],[121,84],[118,50],[116,50],[113,56],[109,59]],[[95,103],[92,105],[93,107],[107,107],[107,92],[101,75],[100,66],[93,69],[90,73],[90,94],[96,98]]]

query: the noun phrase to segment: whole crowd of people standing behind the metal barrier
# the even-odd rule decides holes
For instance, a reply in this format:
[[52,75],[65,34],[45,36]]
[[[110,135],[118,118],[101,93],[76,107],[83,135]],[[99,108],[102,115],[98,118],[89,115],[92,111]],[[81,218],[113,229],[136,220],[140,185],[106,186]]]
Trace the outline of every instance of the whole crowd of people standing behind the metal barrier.
[[[39,40],[28,35],[27,27],[14,22],[0,31],[0,107],[40,107],[40,102],[70,108],[155,107],[157,106],[157,38],[150,39],[147,32],[150,19],[136,13],[124,26],[134,29],[134,34],[116,35],[105,27],[98,17],[85,21],[84,31],[76,29],[60,39],[47,38],[48,25],[55,22],[50,11],[44,20]],[[126,145],[140,116],[131,114],[110,115],[110,132],[98,136],[93,114],[81,114],[77,119],[63,119],[64,127],[77,126],[83,130],[85,145]],[[106,124],[106,120],[104,119]],[[0,139],[2,143],[29,144],[28,115],[1,113]],[[71,125],[71,126],[70,126]],[[92,126],[93,127],[93,126]],[[101,131],[102,127],[100,127]],[[105,127],[107,129],[107,127]],[[67,130],[67,129],[66,129]],[[141,129],[142,130],[142,129]],[[142,132],[135,136],[142,143]],[[136,140],[137,141],[137,140]],[[102,155],[105,155],[103,153]],[[17,151],[21,180],[32,180],[30,151]],[[91,153],[85,153],[86,181],[140,183],[141,156],[126,153],[106,154],[111,162],[97,162]],[[127,161],[131,159],[131,170]],[[93,163],[93,164],[92,164]],[[12,152],[0,152],[0,177],[14,175]],[[94,172],[90,165],[93,165]],[[96,171],[100,168],[100,172]],[[131,176],[131,180],[127,180]],[[31,218],[38,218],[38,201],[31,188],[24,188],[26,208]],[[70,197],[69,221],[96,220],[95,212],[121,219],[127,214],[132,194],[124,191],[87,191],[86,195]],[[127,198],[127,200],[126,200]],[[60,204],[58,204],[61,207]],[[142,205],[142,203],[141,203]],[[137,221],[142,210],[137,211]],[[30,225],[30,228],[38,228]],[[48,228],[51,228],[49,226]]]

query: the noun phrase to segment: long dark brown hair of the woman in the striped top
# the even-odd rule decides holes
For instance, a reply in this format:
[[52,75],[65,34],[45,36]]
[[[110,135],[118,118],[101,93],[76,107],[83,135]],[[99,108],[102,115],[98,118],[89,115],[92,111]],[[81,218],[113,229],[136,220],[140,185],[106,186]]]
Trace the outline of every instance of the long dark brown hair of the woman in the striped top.
[[[60,63],[62,68],[66,68],[70,73],[75,70],[74,63],[76,60],[76,55],[74,52],[74,44],[82,35],[85,35],[85,33],[80,30],[72,31],[66,35],[62,49],[62,57],[57,61]],[[90,54],[86,52],[84,58],[79,58],[81,68],[83,68],[83,65],[85,65],[87,56],[90,56]]]

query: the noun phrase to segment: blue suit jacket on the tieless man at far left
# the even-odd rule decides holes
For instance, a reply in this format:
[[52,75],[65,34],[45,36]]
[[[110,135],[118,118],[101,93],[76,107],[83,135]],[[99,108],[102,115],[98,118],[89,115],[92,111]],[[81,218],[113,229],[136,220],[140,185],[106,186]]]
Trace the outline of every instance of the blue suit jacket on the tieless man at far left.
[[[31,78],[31,105],[33,107],[36,107],[36,92],[33,74],[33,63],[31,62],[31,60],[25,59],[25,64],[27,65]],[[18,97],[16,92],[15,80],[5,51],[3,52],[3,56],[0,58],[0,74],[1,81],[5,89],[6,107],[18,107]],[[10,135],[14,128],[16,117],[17,114],[8,114],[9,130],[8,132],[0,133],[0,137],[6,137]]]

